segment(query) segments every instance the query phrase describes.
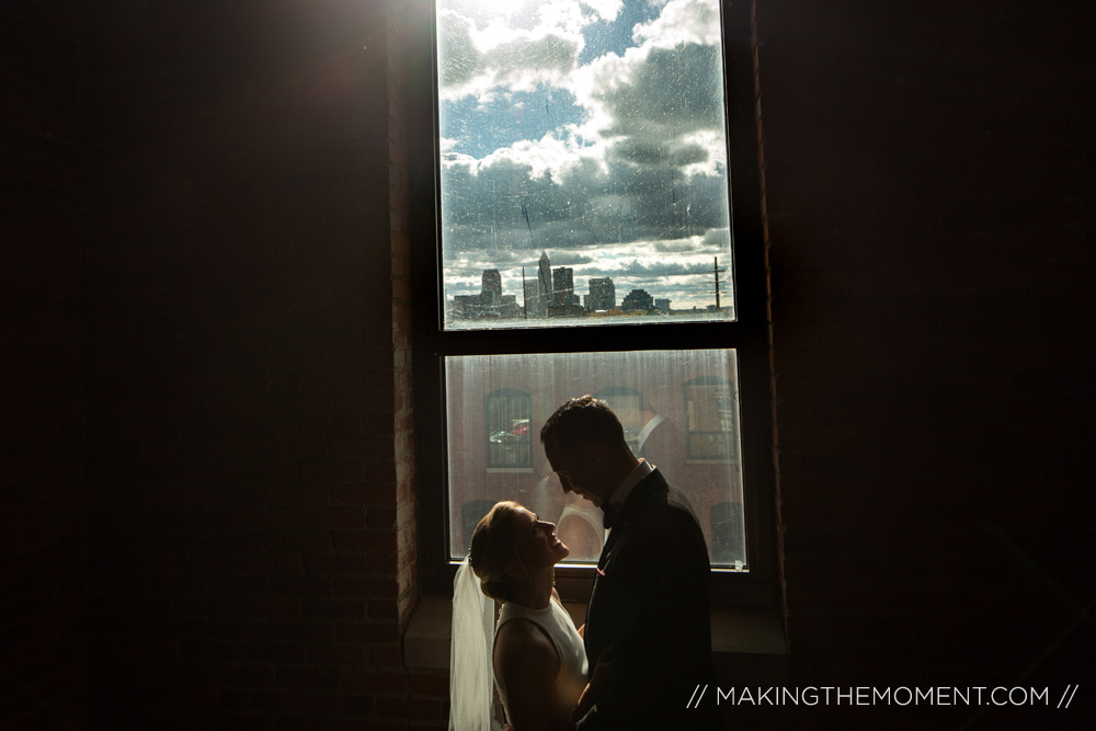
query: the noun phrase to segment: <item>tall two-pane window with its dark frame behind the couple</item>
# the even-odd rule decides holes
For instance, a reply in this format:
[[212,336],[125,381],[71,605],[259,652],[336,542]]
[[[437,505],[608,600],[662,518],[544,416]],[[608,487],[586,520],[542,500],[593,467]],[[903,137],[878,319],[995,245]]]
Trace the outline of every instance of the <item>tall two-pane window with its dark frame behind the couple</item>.
[[433,125],[410,146],[427,590],[446,590],[496,500],[582,517],[539,430],[583,393],[689,496],[731,593],[772,583],[749,9],[422,5],[436,50],[412,115]]

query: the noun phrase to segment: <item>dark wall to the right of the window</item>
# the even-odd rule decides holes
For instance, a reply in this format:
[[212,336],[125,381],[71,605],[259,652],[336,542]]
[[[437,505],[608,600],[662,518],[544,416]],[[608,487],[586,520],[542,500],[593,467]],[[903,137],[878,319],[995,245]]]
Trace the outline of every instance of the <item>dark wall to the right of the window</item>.
[[1084,683],[1093,8],[757,4],[792,678]]

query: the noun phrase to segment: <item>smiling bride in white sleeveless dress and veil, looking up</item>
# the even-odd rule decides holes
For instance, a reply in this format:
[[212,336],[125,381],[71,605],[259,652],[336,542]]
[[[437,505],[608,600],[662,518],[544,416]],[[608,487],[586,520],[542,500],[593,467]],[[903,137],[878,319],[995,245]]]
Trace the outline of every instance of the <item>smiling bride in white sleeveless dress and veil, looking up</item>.
[[[553,586],[568,552],[552,523],[515,502],[495,504],[476,526],[454,582],[450,729],[498,728],[490,671],[514,731],[572,728],[592,705],[582,636]],[[484,596],[502,605],[493,633]]]

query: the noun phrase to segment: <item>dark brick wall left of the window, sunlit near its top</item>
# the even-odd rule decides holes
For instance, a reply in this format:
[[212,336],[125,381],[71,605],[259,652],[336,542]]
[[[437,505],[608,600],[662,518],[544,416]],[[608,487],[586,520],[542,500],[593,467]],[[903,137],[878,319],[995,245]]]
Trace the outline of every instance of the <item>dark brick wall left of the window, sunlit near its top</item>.
[[406,719],[386,4],[89,21],[92,726]]

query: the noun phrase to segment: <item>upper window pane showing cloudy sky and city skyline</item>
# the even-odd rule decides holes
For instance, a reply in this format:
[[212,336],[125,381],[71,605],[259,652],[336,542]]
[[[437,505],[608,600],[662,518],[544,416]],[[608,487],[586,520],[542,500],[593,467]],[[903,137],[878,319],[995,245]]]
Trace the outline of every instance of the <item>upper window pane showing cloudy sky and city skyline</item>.
[[719,0],[437,0],[445,327],[734,319]]

